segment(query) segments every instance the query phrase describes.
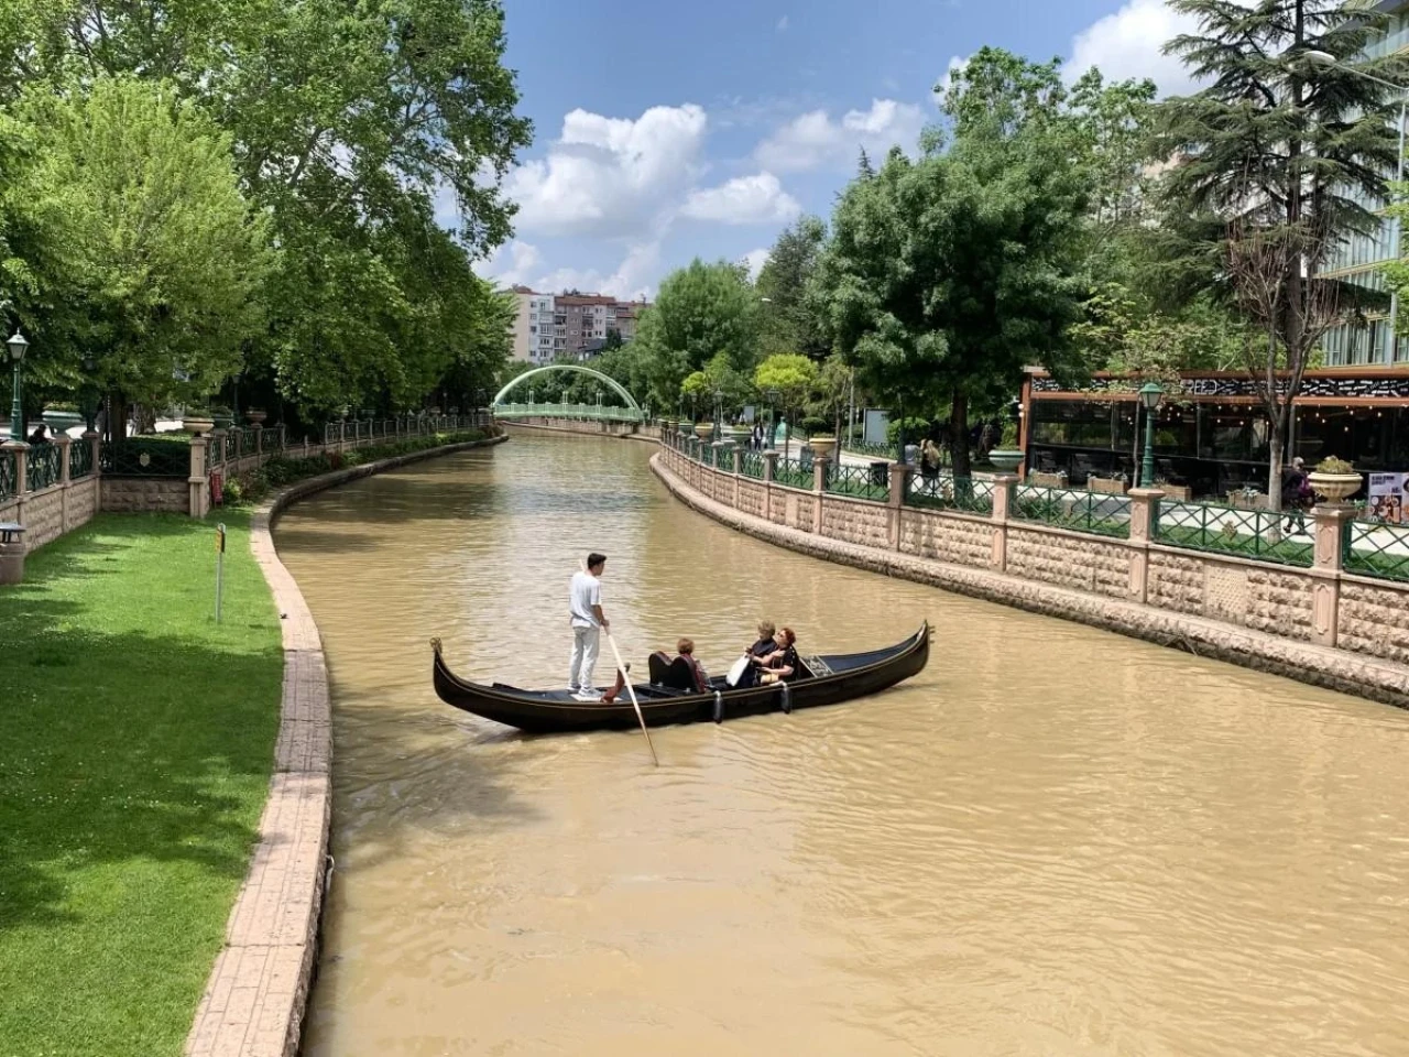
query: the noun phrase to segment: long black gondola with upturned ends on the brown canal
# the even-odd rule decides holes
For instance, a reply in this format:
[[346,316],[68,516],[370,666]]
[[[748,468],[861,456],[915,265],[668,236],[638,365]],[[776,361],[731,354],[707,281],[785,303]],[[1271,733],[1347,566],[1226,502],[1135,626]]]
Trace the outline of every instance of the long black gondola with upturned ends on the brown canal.
[[[672,672],[657,669],[652,681],[633,684],[648,726],[723,722],[766,712],[792,712],[816,705],[837,705],[864,698],[924,671],[930,660],[930,626],[898,645],[864,654],[803,657],[797,676],[769,686],[731,689],[723,676],[710,681],[710,691],[676,689]],[[496,682],[483,685],[461,679],[445,664],[441,641],[431,640],[435,653],[435,693],[447,705],[476,716],[535,734],[578,730],[624,730],[637,726],[630,696],[621,691],[612,703],[573,700],[568,691],[524,691]]]

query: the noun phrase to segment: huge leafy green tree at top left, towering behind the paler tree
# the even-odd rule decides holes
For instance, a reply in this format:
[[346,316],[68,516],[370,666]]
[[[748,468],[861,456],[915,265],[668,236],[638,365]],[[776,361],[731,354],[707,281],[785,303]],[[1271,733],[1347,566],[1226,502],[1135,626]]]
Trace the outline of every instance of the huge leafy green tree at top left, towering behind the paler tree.
[[0,101],[121,73],[196,101],[280,248],[254,369],[306,407],[397,403],[464,354],[465,261],[510,231],[497,178],[530,125],[503,47],[497,0],[10,0]]

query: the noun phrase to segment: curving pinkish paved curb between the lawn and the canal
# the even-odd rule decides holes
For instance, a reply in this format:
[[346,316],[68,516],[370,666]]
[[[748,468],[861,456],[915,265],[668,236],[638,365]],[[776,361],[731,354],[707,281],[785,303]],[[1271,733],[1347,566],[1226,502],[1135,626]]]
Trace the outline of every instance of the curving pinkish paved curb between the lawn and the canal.
[[447,444],[280,489],[249,523],[249,548],[283,617],[283,699],[259,843],[225,925],[225,946],[186,1037],[190,1057],[294,1057],[317,954],[333,820],[333,709],[323,640],[271,528],[292,503],[337,485],[507,437]]

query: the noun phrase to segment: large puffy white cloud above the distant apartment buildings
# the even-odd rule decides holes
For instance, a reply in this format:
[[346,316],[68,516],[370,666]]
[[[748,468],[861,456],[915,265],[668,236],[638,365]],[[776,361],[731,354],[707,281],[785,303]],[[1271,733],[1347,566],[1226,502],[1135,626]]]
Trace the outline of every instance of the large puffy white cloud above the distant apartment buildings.
[[548,156],[504,182],[528,234],[627,237],[651,231],[702,172],[704,110],[651,107],[635,120],[573,110]]

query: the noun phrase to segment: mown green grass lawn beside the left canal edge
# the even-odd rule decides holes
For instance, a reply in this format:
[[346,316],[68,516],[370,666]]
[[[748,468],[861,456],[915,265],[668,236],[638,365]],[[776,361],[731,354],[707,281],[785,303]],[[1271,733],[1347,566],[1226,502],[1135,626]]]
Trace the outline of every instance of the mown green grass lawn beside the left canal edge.
[[0,588],[0,1057],[179,1054],[273,765],[279,616],[225,510],[104,514]]

